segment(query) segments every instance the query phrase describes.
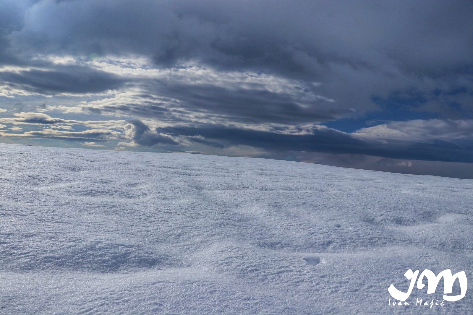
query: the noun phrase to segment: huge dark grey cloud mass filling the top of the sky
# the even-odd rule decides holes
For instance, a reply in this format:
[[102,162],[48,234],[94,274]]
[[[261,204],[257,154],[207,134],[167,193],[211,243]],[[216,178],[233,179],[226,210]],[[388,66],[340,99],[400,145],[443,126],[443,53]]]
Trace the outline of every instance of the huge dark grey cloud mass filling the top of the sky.
[[[371,96],[473,90],[469,1],[44,0],[15,47],[44,53],[138,53],[159,67],[199,62],[319,81],[321,95],[360,112]],[[461,77],[461,78],[460,78]],[[472,100],[467,97],[464,102]],[[471,103],[470,103],[471,104]],[[433,106],[433,105],[432,105]],[[459,114],[457,114],[459,115]]]

